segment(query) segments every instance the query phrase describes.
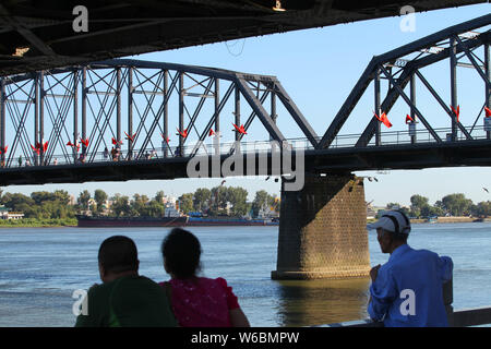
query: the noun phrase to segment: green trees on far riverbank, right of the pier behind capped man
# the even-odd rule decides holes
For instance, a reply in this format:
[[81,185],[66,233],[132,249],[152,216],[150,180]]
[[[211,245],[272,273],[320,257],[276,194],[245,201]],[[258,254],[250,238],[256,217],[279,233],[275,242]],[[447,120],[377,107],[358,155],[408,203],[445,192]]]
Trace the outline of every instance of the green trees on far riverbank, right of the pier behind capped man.
[[[448,194],[438,200],[433,205],[423,195],[415,194],[410,197],[410,206],[402,207],[406,215],[412,218],[443,217],[443,216],[491,216],[491,201],[475,204],[463,193]],[[400,207],[398,203],[388,203],[386,208]]]

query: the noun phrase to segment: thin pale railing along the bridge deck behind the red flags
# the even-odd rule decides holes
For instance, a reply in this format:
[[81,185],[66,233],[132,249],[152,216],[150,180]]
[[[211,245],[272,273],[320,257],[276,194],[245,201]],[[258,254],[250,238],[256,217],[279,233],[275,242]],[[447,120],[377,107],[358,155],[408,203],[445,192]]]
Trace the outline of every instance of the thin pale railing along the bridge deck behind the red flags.
[[[474,128],[467,128],[471,130],[471,135],[474,140],[486,140],[487,132],[483,125],[477,125]],[[441,128],[433,129],[434,132],[441,137],[443,142],[452,142],[450,140],[450,133],[452,129]],[[387,131],[381,132],[381,146],[395,146],[395,145],[408,145],[416,141],[416,144],[432,144],[436,143],[431,133],[428,130],[416,130],[411,134],[409,131]],[[344,134],[338,135],[331,144],[330,149],[335,148],[349,148],[355,147],[358,142],[360,134]],[[462,133],[457,133],[457,141],[465,142],[467,139]],[[320,139],[318,140],[320,141]],[[303,149],[303,151],[315,151],[308,139],[288,139],[284,142],[284,147],[288,146],[290,149]],[[133,149],[131,154],[128,151],[120,149],[118,155],[113,157],[110,152],[95,152],[86,153],[85,157],[81,157],[81,154],[74,154],[72,151],[67,151],[64,154],[51,155],[49,158],[45,158],[43,165],[37,166],[56,166],[56,165],[82,165],[82,164],[94,164],[94,163],[110,163],[110,161],[133,161],[133,160],[154,160],[163,158],[179,158],[189,157],[194,155],[213,155],[218,149],[218,154],[232,154],[240,147],[240,152],[248,153],[262,153],[272,152],[273,147],[279,149],[282,145],[277,142],[272,141],[256,141],[256,142],[226,142],[226,143],[202,143],[200,145],[192,144],[187,145],[181,149],[179,147],[170,147],[167,144],[163,144],[159,148],[146,148],[146,149]],[[367,147],[375,147],[375,142],[372,140]],[[21,158],[21,159],[20,159]],[[31,167],[36,166],[36,156],[25,158],[20,156],[20,158],[12,158],[10,161],[2,167],[7,168],[19,168],[19,167]],[[37,163],[40,163],[38,157]]]

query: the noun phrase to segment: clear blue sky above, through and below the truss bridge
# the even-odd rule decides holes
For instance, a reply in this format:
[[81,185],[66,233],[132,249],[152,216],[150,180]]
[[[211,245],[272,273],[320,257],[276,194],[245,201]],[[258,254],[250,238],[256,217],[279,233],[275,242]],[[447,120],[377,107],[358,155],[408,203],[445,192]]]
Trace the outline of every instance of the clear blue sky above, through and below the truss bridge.
[[[416,31],[412,33],[399,29],[402,17],[388,17],[154,52],[133,58],[275,75],[318,134],[322,135],[373,56],[384,53],[447,26],[487,14],[490,10],[490,4],[478,4],[417,13]],[[446,61],[443,65],[433,68],[433,71],[428,71],[427,79],[435,83],[445,100],[450,101],[450,74],[447,73]],[[479,77],[476,72],[472,73],[476,76],[468,76],[469,73],[467,72],[462,73],[465,79],[458,82],[460,121],[466,125],[474,122],[484,101],[483,84],[475,84],[475,82],[479,82]],[[475,85],[477,86],[476,89],[470,88]],[[367,95],[368,99],[362,99],[360,106],[355,110],[363,110],[363,112],[355,112],[343,128],[342,134],[358,133],[369,122],[371,110],[373,110],[373,94],[368,93]],[[434,127],[450,127],[448,118],[435,117],[435,119],[431,119],[428,117],[428,115],[433,117],[432,111],[434,110],[436,113],[436,109],[438,113],[442,112],[434,100],[428,100],[428,105],[423,108],[426,108],[424,113],[430,123]],[[421,99],[418,103],[421,103]],[[394,115],[397,112],[397,115],[405,116],[407,107],[404,107],[404,104],[400,106],[400,109],[395,109]],[[466,111],[468,115],[466,115]],[[466,116],[468,117],[467,120],[464,119]],[[391,119],[394,124],[392,130],[406,130],[403,117],[397,120],[395,120],[395,117]],[[287,137],[297,135],[296,130],[290,130],[289,124],[291,122],[285,119],[282,123],[280,119],[282,115],[279,113],[279,128]],[[491,190],[491,168],[398,170],[391,171],[387,174],[375,172],[359,172],[357,174],[375,176],[379,179],[379,182],[366,181],[366,198],[367,201],[373,201],[375,205],[385,205],[388,202],[407,205],[412,194],[422,194],[428,196],[431,203],[434,203],[444,195],[456,192],[464,193],[474,202],[491,200],[490,194],[482,189],[486,186]],[[109,194],[132,195],[133,193],[142,193],[154,196],[158,190],[164,190],[166,194],[180,195],[192,192],[200,186],[212,188],[219,183],[220,179],[182,179],[173,181],[12,185],[2,189],[26,194],[39,190],[64,189],[76,196],[84,189],[93,192],[100,188]],[[264,178],[229,178],[226,185],[246,188],[251,200],[255,191],[261,189],[279,194],[279,184],[272,180],[266,182]]]

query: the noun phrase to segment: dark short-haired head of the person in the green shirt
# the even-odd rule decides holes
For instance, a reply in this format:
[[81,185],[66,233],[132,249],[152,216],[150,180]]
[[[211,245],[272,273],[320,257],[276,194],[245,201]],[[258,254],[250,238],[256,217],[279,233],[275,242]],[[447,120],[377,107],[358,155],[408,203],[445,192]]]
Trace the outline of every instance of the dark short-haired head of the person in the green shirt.
[[104,240],[98,261],[100,279],[104,282],[122,275],[136,274],[139,270],[136,245],[128,237],[115,236]]

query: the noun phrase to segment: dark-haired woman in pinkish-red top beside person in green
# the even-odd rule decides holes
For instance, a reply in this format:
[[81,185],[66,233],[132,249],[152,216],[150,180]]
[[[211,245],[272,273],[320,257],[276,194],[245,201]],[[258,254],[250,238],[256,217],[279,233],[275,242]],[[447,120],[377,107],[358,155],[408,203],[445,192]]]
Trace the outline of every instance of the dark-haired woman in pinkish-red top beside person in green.
[[170,280],[160,282],[182,327],[249,327],[237,297],[224,278],[199,277],[201,244],[183,229],[172,229],[161,243],[165,270]]

